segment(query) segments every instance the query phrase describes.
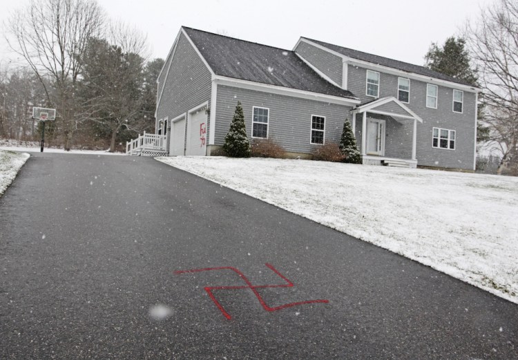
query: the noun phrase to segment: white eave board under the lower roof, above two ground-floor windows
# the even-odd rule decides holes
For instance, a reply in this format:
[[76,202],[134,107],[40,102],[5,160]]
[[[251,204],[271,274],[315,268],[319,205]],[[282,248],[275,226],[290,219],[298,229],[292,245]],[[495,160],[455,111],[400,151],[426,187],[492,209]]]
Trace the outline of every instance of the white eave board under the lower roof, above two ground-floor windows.
[[232,77],[224,77],[220,75],[215,75],[213,81],[218,85],[233,86],[235,88],[247,88],[249,90],[262,91],[263,93],[274,93],[278,95],[300,97],[303,99],[314,100],[319,102],[330,102],[332,104],[340,104],[345,106],[354,106],[360,104],[359,99],[349,99],[346,97],[312,93],[311,91],[303,91],[294,88],[285,88],[284,86],[262,84],[259,82],[234,79]]

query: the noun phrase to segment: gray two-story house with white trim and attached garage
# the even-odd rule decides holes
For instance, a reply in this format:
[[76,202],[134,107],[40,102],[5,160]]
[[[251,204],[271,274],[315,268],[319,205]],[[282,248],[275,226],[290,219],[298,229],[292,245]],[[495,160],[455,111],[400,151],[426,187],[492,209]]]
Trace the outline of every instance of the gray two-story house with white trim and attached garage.
[[152,136],[169,155],[217,153],[240,100],[249,137],[292,155],[339,142],[347,119],[364,164],[474,169],[479,88],[422,66],[305,37],[284,50],[182,27],[157,83]]

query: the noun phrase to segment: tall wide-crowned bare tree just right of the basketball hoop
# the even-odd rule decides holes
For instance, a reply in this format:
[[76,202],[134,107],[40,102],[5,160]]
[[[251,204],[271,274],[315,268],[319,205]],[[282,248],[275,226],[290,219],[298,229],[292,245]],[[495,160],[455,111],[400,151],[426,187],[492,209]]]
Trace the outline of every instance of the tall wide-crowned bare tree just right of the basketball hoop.
[[6,39],[57,108],[56,125],[67,150],[77,126],[75,93],[84,51],[103,23],[104,13],[95,0],[31,0],[8,21]]

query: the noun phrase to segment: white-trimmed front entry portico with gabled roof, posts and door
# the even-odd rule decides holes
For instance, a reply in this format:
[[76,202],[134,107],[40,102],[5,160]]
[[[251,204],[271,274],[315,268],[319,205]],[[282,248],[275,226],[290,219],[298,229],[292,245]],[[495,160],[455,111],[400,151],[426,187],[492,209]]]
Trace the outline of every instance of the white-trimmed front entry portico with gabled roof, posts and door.
[[[356,133],[357,114],[361,114],[360,134]],[[385,97],[357,106],[352,116],[352,130],[361,144],[363,164],[393,162],[417,166],[417,122],[423,120],[405,104],[395,97]]]

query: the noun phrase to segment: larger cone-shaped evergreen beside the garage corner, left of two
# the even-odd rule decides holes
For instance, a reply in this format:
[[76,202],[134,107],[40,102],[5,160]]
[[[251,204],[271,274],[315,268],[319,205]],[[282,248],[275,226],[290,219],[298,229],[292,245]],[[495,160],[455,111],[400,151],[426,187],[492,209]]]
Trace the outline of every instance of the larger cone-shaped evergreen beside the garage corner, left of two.
[[239,101],[229,132],[225,136],[223,151],[231,158],[249,158],[251,155],[250,142],[244,127],[243,108]]

